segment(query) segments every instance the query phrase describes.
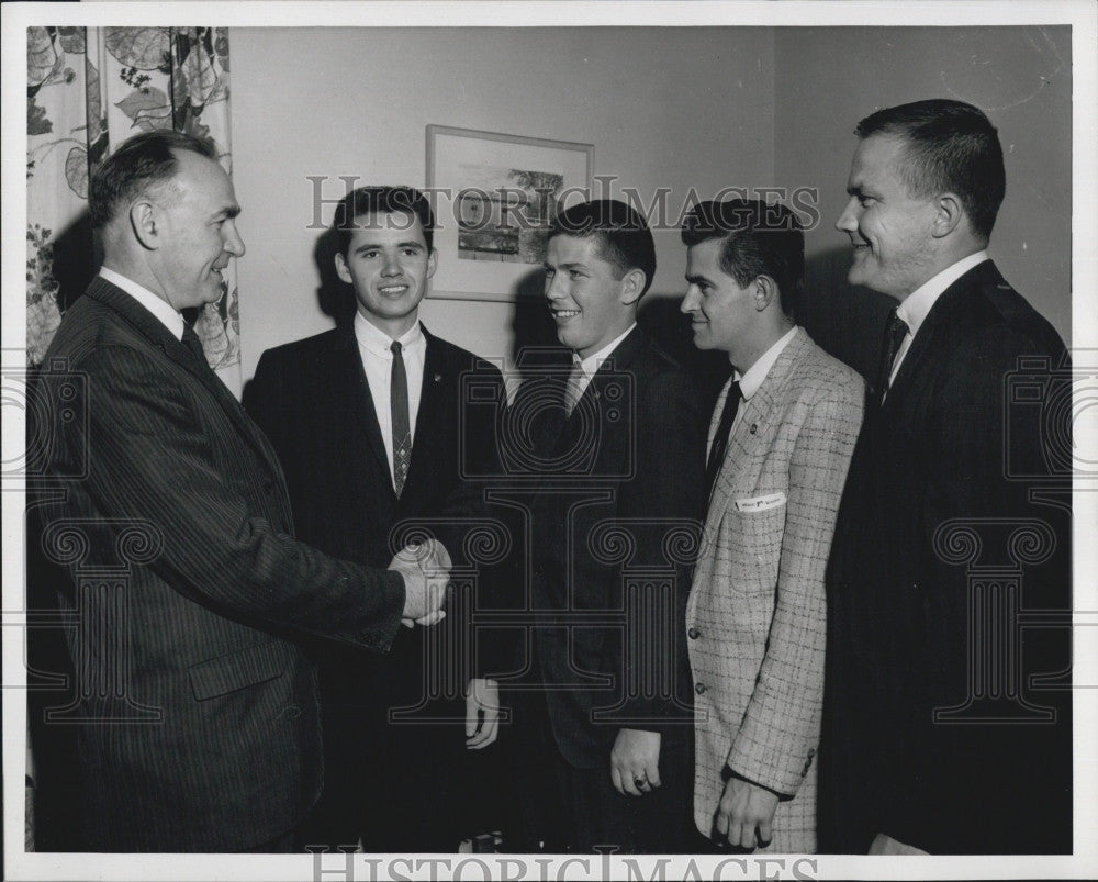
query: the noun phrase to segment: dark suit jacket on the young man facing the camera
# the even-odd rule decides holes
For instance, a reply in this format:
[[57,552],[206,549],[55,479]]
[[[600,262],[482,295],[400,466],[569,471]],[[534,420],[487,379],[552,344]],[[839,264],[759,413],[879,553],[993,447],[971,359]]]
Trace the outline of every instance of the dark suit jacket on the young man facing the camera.
[[[399,499],[354,331],[335,328],[259,359],[245,405],[285,470],[298,535],[328,554],[384,567],[403,547],[403,531],[416,525],[442,539],[456,565],[469,562],[462,540],[470,518],[483,524],[488,517],[479,503],[495,462],[503,378],[471,353],[426,328],[424,335],[412,465]],[[475,400],[467,403],[470,395]],[[458,623],[449,617],[439,627]],[[417,695],[408,690],[422,688],[426,634],[402,629],[391,655],[359,656],[341,676],[333,666],[322,688],[361,696],[369,692],[363,671],[373,671],[380,678],[374,686],[414,701]],[[337,689],[336,677],[346,680],[345,689]],[[394,677],[407,689],[397,689]]]

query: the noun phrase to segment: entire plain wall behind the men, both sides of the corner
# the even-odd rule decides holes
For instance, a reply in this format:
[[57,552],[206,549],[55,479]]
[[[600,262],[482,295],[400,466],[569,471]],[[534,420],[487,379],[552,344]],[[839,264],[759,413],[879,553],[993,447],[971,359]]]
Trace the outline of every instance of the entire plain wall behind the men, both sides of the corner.
[[[1066,27],[251,27],[232,31],[232,64],[245,380],[265,349],[334,324],[317,299],[307,176],[328,176],[326,199],[343,194],[340,175],[423,186],[428,123],[594,144],[595,174],[618,178],[612,196],[670,188],[669,227],[691,188],[816,188],[815,321],[864,367],[873,340],[844,350],[851,326],[832,308],[849,260],[833,222],[852,130],[878,107],[935,96],[976,103],[999,127],[1008,188],[993,257],[1071,337]],[[681,294],[685,255],[676,230],[656,236],[658,301]],[[673,316],[664,305],[651,314]],[[511,303],[428,299],[422,315],[480,355],[513,351]]]

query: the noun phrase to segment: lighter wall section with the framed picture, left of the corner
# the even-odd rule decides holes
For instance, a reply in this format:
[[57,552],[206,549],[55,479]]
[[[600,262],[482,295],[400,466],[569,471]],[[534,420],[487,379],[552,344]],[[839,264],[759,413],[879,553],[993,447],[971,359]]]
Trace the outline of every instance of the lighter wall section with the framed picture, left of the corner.
[[[596,175],[647,201],[671,188],[773,182],[772,29],[234,29],[233,158],[243,375],[324,331],[306,176],[325,198],[425,183],[428,123],[595,145]],[[323,211],[330,219],[332,206]],[[657,232],[656,295],[681,294],[676,230]],[[509,303],[432,300],[425,324],[486,357],[512,353]]]

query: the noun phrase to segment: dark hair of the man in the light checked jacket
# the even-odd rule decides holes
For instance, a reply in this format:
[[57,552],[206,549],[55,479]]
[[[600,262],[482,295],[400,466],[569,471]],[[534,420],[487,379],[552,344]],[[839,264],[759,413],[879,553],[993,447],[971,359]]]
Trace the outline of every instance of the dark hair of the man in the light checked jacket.
[[785,205],[758,199],[699,202],[683,221],[683,245],[724,241],[720,268],[741,288],[760,276],[777,286],[782,312],[794,316],[794,302],[805,273],[805,234]]

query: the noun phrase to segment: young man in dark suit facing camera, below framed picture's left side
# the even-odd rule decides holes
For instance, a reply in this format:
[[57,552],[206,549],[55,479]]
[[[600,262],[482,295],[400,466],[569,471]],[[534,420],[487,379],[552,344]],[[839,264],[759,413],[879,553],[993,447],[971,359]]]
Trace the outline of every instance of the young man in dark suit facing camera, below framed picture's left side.
[[[408,528],[424,528],[460,559],[462,526],[486,516],[475,478],[495,449],[491,414],[467,407],[466,390],[494,389],[502,402],[502,376],[419,322],[438,259],[422,193],[359,188],[336,206],[333,228],[354,323],[265,353],[248,410],[278,451],[307,542],[374,565]],[[384,658],[323,650],[329,774],[304,845],[456,851],[485,831],[478,822],[498,823],[478,803],[491,795],[493,757],[469,753],[496,738],[497,690],[472,676],[484,640],[474,644],[459,618],[429,646],[422,629],[401,633]]]

